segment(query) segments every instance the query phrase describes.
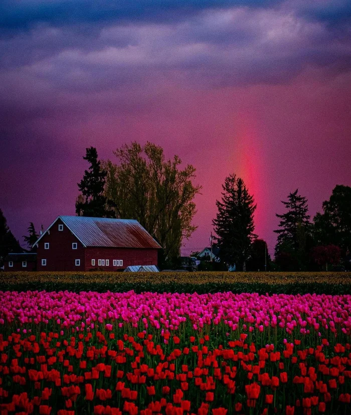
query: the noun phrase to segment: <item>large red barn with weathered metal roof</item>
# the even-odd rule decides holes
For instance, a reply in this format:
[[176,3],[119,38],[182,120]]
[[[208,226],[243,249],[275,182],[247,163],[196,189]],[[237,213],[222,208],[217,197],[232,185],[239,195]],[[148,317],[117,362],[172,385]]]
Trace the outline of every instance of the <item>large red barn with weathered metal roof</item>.
[[157,265],[160,245],[135,220],[59,216],[35,243],[38,271]]

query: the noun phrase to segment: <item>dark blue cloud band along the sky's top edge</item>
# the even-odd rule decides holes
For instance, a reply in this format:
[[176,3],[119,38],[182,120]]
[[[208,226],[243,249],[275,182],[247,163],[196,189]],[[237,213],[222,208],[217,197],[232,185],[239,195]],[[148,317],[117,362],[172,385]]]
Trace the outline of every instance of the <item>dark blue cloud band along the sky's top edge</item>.
[[348,0],[3,0],[0,4],[0,34],[11,36],[41,24],[54,27],[87,25],[91,28],[113,22],[171,23],[201,11],[233,7],[294,10],[308,20],[330,25],[348,24],[351,18]]

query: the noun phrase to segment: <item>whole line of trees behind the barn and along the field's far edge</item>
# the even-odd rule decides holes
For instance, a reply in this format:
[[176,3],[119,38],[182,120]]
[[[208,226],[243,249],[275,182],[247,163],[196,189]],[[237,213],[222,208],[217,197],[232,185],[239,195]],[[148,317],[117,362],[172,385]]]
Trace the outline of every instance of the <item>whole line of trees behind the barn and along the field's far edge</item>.
[[[202,186],[194,184],[196,169],[174,155],[166,159],[162,147],[147,142],[125,144],[113,152],[117,158],[99,160],[95,147],[83,157],[89,167],[78,183],[78,216],[136,219],[162,246],[162,269],[179,267],[182,243],[197,229],[194,197]],[[298,189],[282,201],[274,260],[267,244],[255,234],[256,203],[244,180],[234,173],[222,185],[213,220],[215,263],[203,270],[318,271],[350,270],[351,187],[337,185],[311,220],[308,200]],[[209,230],[210,233],[211,230]],[[9,252],[20,250],[0,211],[0,263]],[[38,238],[33,223],[24,237],[28,249]]]

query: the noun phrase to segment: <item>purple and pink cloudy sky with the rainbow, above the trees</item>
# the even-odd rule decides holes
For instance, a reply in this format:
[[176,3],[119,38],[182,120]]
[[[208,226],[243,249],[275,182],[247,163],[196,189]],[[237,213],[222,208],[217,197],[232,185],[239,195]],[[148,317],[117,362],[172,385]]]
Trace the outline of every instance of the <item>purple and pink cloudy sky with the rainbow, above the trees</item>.
[[183,255],[209,245],[231,173],[272,253],[289,192],[313,217],[351,185],[350,114],[347,0],[0,3],[0,208],[21,243],[75,214],[86,147],[151,141],[203,186]]

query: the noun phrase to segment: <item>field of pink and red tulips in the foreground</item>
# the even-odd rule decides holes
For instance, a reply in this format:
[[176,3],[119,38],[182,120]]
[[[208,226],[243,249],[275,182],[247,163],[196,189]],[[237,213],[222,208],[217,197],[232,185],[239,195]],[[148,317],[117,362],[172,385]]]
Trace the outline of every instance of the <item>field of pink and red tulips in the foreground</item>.
[[0,415],[351,413],[349,294],[0,298]]

